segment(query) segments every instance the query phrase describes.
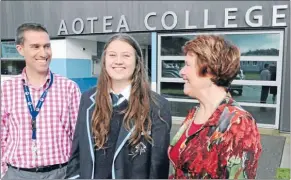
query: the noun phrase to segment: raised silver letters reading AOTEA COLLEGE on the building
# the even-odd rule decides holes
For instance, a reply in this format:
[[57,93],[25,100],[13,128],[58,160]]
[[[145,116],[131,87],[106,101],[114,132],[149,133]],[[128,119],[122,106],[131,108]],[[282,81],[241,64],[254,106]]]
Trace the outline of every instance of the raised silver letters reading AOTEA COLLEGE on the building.
[[[273,5],[272,8],[272,26],[278,27],[278,26],[286,26],[286,22],[284,21],[286,18],[286,14],[279,12],[280,10],[285,10],[288,8],[288,5]],[[247,26],[249,27],[261,27],[263,26],[263,15],[253,15],[254,11],[262,11],[262,6],[252,6],[245,12],[244,20]],[[236,12],[238,11],[238,8],[225,8],[224,9],[224,28],[236,28],[238,27],[237,24],[232,23],[232,20],[235,20]],[[195,29],[195,28],[216,28],[216,24],[210,24],[209,23],[209,10],[204,9],[203,11],[203,26],[198,27],[195,24],[190,24],[190,17],[193,17],[193,14],[191,15],[190,11],[185,11],[184,13],[184,27],[183,29]],[[202,15],[201,15],[202,16]],[[201,17],[199,16],[199,18]],[[196,16],[197,17],[197,16]],[[166,18],[169,18],[170,21],[166,23]],[[281,19],[279,22],[278,20]],[[72,23],[68,26],[67,22],[65,20],[61,20],[58,30],[58,35],[68,35],[68,28],[71,28],[71,31],[73,34],[82,34],[84,32],[84,29],[88,29],[86,33],[96,33],[94,30],[94,27],[96,27],[96,23],[98,26],[102,26],[102,33],[110,33],[110,32],[120,32],[123,31],[131,31],[129,28],[128,20],[126,19],[125,15],[121,15],[118,17],[118,22],[116,29],[112,28],[112,20],[113,16],[103,16],[101,18],[99,17],[87,17],[86,19],[82,18],[75,18]],[[100,22],[101,21],[101,22]],[[149,12],[147,13],[144,18],[142,19],[144,27],[140,28],[138,30],[148,30],[148,31],[155,31],[159,30],[157,29],[157,22],[161,23],[161,26],[165,30],[173,30],[176,28],[178,24],[178,16],[174,11],[166,11],[160,16],[157,12]],[[154,21],[155,23],[149,23],[150,21]],[[134,29],[136,30],[136,29]],[[99,32],[100,33],[100,32]]]

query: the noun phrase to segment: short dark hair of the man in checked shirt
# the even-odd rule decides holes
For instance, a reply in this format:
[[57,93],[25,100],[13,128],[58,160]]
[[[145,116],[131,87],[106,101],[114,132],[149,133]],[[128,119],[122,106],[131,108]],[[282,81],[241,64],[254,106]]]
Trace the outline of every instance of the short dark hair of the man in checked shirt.
[[20,45],[24,43],[24,32],[25,31],[42,31],[48,33],[46,28],[38,23],[24,23],[21,24],[16,30],[16,44]]

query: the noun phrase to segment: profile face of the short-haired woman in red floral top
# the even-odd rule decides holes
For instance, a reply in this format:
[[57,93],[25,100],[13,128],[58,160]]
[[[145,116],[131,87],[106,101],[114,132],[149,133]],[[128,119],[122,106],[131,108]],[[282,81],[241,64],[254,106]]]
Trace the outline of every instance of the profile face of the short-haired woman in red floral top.
[[181,69],[180,74],[185,81],[184,94],[190,97],[196,97],[197,92],[210,87],[211,80],[209,76],[199,76],[197,66],[198,56],[195,53],[187,53],[185,66]]

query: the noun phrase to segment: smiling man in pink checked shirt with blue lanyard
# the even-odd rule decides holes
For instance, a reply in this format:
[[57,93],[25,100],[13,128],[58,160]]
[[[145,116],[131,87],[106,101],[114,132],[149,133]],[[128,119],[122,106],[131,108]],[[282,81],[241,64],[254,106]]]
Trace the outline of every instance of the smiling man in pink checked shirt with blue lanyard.
[[50,38],[40,24],[19,26],[16,48],[26,66],[1,84],[1,179],[64,178],[80,90],[49,70]]

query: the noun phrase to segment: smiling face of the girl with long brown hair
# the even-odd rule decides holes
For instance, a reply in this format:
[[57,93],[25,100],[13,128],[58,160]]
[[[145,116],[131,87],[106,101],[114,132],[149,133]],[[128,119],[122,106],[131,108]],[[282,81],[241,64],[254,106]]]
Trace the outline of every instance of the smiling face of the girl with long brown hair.
[[114,40],[108,45],[105,68],[113,82],[131,81],[135,66],[135,50],[131,45],[121,40]]

